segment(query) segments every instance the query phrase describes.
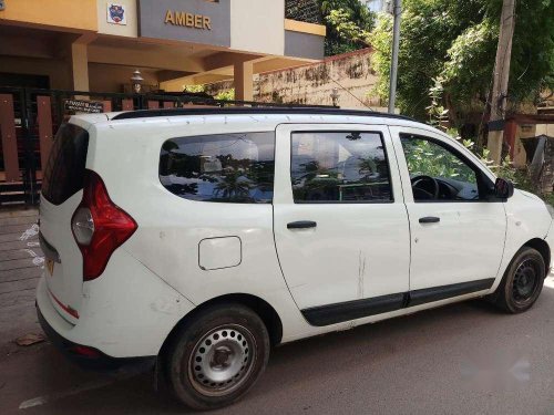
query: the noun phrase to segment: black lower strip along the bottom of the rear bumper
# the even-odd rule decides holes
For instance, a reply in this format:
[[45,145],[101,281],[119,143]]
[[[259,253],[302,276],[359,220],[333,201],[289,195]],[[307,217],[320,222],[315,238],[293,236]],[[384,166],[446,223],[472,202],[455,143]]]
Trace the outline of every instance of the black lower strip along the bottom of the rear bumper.
[[145,372],[154,366],[156,356],[144,357],[112,357],[101,351],[82,344],[74,343],[58,333],[44,319],[37,305],[39,323],[52,344],[62,352],[71,362],[93,371],[132,371]]

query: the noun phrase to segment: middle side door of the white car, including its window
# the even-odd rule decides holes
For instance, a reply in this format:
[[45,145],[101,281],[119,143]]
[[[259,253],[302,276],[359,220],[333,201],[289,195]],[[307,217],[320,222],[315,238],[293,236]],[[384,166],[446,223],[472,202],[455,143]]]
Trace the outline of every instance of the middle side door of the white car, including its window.
[[305,317],[325,325],[400,308],[409,225],[388,128],[284,124],[276,132],[275,242]]

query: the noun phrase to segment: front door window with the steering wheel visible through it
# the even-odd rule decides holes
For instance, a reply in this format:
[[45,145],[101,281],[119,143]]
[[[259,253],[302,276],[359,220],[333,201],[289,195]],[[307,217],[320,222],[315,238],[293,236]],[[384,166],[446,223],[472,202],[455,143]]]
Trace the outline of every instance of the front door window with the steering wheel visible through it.
[[474,167],[439,142],[401,134],[416,201],[479,200]]

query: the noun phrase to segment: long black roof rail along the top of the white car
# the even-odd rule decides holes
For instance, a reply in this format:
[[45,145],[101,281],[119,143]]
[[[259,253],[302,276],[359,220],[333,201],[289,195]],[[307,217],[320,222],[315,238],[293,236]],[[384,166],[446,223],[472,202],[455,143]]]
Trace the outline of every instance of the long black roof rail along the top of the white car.
[[398,118],[414,121],[404,115],[379,113],[363,110],[341,110],[336,107],[255,107],[255,106],[227,106],[206,108],[164,108],[164,110],[138,110],[115,115],[112,120],[151,118],[156,116],[178,116],[178,115],[234,115],[234,114],[306,114],[306,115],[343,115],[343,116],[376,116],[383,118]]

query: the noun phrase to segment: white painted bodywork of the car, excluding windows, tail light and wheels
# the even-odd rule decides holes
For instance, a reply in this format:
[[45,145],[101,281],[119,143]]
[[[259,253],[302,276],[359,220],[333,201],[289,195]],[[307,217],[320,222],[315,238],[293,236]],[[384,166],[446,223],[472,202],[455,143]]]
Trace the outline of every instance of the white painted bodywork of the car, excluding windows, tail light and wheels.
[[[430,126],[353,112],[160,114],[122,120],[113,120],[116,113],[79,115],[69,122],[89,133],[86,169],[102,178],[111,200],[137,225],[102,274],[83,281],[83,259],[71,227],[83,190],[58,206],[41,198],[41,235],[60,261],[53,263],[52,276],[45,267],[38,308],[71,344],[110,357],[156,356],[191,312],[228,295],[269,307],[278,317],[274,340],[286,343],[492,293],[514,255],[530,241],[551,258],[552,217],[536,196],[515,190],[513,197],[495,201],[414,201],[400,134],[441,142],[495,180],[471,152]],[[291,133],[321,131],[380,134],[393,200],[295,204]],[[162,185],[164,142],[248,132],[275,133],[273,204],[189,200]],[[441,221],[418,221],[428,216]],[[317,228],[287,228],[301,220],[316,221]],[[474,281],[489,282],[481,287]],[[429,289],[444,287],[453,288],[444,289],[445,298],[429,297]],[[414,301],[419,294],[422,300]],[[403,304],[380,312],[376,298]],[[367,315],[359,317],[352,305],[346,318],[336,318],[337,304],[357,304]],[[348,312],[356,318],[348,319]]]

